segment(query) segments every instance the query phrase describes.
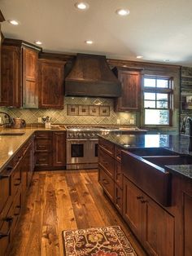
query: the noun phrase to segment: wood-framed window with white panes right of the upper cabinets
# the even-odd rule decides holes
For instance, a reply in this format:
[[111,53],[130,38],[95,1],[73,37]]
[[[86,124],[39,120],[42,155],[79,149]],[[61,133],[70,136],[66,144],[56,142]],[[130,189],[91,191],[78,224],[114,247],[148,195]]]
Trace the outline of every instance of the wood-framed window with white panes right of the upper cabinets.
[[170,125],[171,99],[172,78],[144,77],[145,125]]

